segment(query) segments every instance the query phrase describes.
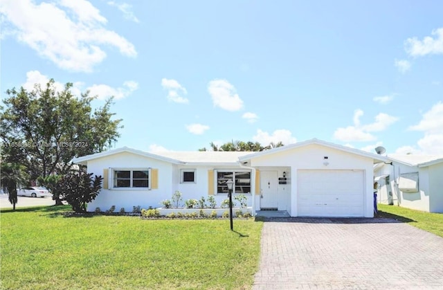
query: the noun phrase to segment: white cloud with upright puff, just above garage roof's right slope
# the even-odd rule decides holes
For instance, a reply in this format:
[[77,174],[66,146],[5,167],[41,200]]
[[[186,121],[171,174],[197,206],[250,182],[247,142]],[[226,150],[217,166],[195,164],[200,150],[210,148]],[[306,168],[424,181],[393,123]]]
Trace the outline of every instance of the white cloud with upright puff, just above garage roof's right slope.
[[354,111],[354,126],[341,127],[334,132],[334,138],[343,142],[352,141],[375,141],[377,138],[370,132],[380,132],[388,126],[397,122],[398,118],[388,114],[380,113],[375,116],[375,122],[367,125],[361,125],[360,118],[363,116],[361,109]]

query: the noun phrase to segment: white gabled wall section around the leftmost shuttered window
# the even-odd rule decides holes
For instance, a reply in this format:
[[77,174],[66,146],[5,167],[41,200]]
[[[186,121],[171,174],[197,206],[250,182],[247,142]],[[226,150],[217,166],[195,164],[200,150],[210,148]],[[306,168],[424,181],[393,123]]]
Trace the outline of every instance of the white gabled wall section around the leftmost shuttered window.
[[[125,208],[132,211],[133,206],[142,208],[157,208],[160,201],[169,199],[172,192],[172,164],[159,161],[145,156],[139,156],[129,152],[122,152],[111,156],[105,156],[88,161],[88,172],[96,175],[103,175],[104,169],[133,169],[133,168],[155,168],[159,170],[158,189],[137,189],[137,188],[114,188],[102,189],[98,197],[88,204],[88,211],[94,211],[97,207],[100,210],[109,210],[111,206],[116,206],[116,211]],[[109,180],[109,184],[112,181]]]

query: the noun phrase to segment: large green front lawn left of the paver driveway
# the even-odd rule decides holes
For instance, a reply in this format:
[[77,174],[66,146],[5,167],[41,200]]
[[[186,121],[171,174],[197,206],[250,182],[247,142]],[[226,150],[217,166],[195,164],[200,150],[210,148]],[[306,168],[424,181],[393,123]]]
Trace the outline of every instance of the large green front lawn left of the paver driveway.
[[262,222],[1,212],[1,289],[249,289]]

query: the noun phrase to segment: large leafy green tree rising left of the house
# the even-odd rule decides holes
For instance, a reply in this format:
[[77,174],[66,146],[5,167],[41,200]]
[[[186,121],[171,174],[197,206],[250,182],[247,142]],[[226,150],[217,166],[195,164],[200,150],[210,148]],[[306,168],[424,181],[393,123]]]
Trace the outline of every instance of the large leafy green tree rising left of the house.
[[0,108],[2,159],[25,166],[30,180],[66,174],[73,157],[102,152],[120,136],[112,98],[92,109],[96,97],[89,92],[73,96],[72,86],[67,83],[60,91],[50,80],[32,91],[6,91]]

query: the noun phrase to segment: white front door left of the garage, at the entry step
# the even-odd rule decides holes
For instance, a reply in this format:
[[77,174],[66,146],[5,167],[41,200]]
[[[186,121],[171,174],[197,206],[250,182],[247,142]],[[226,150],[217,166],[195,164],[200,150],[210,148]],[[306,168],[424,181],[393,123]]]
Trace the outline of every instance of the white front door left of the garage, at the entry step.
[[278,209],[278,172],[260,172],[260,210]]

